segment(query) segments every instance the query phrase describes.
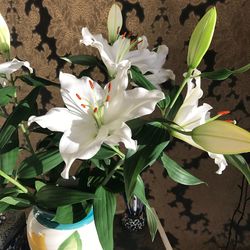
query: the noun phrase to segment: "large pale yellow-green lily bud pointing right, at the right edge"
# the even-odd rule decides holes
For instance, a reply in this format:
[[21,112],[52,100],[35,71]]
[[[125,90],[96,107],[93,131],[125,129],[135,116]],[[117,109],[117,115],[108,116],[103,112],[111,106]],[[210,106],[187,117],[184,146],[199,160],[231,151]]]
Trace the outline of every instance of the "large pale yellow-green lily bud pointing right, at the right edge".
[[192,131],[193,140],[205,150],[216,154],[250,152],[250,133],[226,121],[211,121]]

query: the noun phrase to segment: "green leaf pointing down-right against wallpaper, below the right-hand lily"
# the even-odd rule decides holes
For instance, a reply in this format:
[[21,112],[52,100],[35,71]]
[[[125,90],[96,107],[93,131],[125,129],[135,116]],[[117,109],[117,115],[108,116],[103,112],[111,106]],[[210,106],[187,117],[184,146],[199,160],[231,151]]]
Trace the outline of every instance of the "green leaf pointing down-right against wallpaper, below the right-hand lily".
[[183,185],[198,185],[204,183],[197,177],[184,170],[179,164],[163,153],[161,157],[163,167],[167,170],[169,177]]

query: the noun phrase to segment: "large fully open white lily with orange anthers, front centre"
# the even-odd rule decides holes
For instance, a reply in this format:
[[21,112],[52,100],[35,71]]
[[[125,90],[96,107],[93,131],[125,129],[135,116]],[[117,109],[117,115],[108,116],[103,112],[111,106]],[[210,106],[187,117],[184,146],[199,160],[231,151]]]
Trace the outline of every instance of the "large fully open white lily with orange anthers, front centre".
[[75,159],[90,159],[103,143],[123,142],[126,148],[136,150],[136,141],[125,122],[152,113],[164,94],[144,88],[126,90],[129,67],[128,61],[124,61],[116,78],[104,89],[89,77],[78,79],[61,72],[61,95],[66,108],[52,108],[46,115],[29,118],[28,124],[36,122],[64,133],[59,144],[66,163],[64,178],[69,177]]

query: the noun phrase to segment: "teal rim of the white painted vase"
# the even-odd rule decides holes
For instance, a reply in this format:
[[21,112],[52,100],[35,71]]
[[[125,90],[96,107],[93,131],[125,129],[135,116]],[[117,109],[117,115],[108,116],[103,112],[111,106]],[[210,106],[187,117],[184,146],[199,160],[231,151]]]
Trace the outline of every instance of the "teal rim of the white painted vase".
[[93,208],[88,212],[87,216],[84,217],[82,220],[71,223],[71,224],[61,224],[56,221],[52,221],[53,213],[45,212],[40,210],[37,207],[33,208],[33,214],[36,220],[43,226],[52,228],[52,229],[58,229],[58,230],[72,230],[77,229],[80,227],[83,227],[84,225],[90,224],[92,221],[94,221],[94,213]]

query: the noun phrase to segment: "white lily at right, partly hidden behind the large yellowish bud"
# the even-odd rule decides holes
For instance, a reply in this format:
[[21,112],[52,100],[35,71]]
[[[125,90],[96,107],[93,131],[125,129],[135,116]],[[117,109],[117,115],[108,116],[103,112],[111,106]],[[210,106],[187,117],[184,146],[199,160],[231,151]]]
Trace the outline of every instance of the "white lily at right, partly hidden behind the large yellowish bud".
[[[187,83],[186,97],[173,121],[180,126],[178,129],[192,131],[197,126],[204,124],[210,118],[210,112],[208,111],[212,109],[212,106],[207,103],[203,103],[201,106],[198,106],[198,101],[203,95],[203,91],[201,89],[201,78],[198,76],[200,73],[200,71],[194,70],[193,75],[197,77],[190,79]],[[192,137],[189,135],[183,135],[174,131],[173,136],[187,142],[194,147],[205,150],[195,143]],[[228,165],[225,157],[221,154],[214,154],[211,152],[208,152],[208,154],[212,159],[215,160],[215,164],[217,164],[219,167],[216,173],[221,174]]]

